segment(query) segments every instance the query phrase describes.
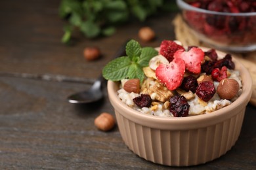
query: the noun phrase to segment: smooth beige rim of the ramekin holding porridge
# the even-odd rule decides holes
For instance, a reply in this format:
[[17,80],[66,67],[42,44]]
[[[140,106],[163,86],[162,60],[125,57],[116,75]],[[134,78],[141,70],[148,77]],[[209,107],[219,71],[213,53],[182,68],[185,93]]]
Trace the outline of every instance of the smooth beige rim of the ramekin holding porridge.
[[[211,49],[202,46],[200,46],[200,48],[202,48],[203,51]],[[226,54],[225,52],[221,52],[219,50],[216,50],[216,52],[218,56],[223,56]],[[112,103],[112,106],[117,112],[125,116],[127,119],[136,122],[137,124],[142,124],[148,127],[154,127],[157,129],[170,129],[170,127],[171,129],[195,129],[196,127],[205,127],[218,124],[238,114],[238,112],[242,112],[241,110],[245,109],[247,103],[249,103],[252,93],[252,79],[249,71],[247,71],[244,65],[242,65],[238,59],[236,59],[234,54],[232,54],[232,61],[234,61],[236,69],[240,71],[240,76],[242,77],[242,94],[230,105],[223,107],[220,110],[215,110],[213,113],[187,117],[161,117],[145,114],[134,110],[125,105],[125,103],[121,102],[117,96],[119,82],[114,82],[112,80],[108,80],[108,97],[110,99],[110,103]],[[241,107],[241,105],[244,105],[244,107]],[[127,111],[124,112],[124,109]],[[225,114],[227,112],[228,114]],[[161,126],[159,123],[161,123]]]

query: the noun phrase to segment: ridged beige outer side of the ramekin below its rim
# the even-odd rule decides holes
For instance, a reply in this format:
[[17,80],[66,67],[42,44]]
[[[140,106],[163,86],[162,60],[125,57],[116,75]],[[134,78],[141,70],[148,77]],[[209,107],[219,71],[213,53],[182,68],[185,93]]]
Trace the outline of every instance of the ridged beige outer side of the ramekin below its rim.
[[116,119],[123,141],[135,154],[162,165],[188,166],[214,160],[230,150],[240,135],[244,111],[219,124],[189,130],[142,126],[117,110]]

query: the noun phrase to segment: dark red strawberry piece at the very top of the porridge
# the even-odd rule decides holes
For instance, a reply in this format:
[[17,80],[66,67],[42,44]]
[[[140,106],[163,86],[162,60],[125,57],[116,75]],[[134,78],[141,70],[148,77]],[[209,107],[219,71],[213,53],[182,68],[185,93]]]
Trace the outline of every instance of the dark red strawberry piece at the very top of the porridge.
[[169,62],[173,61],[173,55],[177,50],[184,50],[184,47],[174,41],[164,40],[160,45],[160,54],[165,56]]

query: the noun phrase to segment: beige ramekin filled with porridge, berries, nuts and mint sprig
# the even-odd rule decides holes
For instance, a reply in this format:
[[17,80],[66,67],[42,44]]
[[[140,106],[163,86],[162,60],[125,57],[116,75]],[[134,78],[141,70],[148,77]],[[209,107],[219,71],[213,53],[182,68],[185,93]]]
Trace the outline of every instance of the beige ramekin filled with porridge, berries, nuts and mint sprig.
[[[182,50],[183,47],[179,47],[176,50],[180,50],[180,54],[193,49]],[[166,49],[176,53],[173,48]],[[188,64],[191,61],[192,68],[191,65],[184,66],[184,59],[175,59],[176,56],[172,58],[172,55],[166,58],[167,61],[160,56],[163,62],[158,62],[158,57],[154,57],[161,54],[161,46],[158,50],[140,48],[139,43],[132,41],[127,44],[128,57],[117,58],[104,67],[103,75],[108,79],[108,97],[115,110],[121,137],[128,148],[141,158],[162,165],[198,165],[219,158],[236,143],[251,97],[251,77],[237,59],[228,59],[229,55],[224,61],[226,69],[222,66],[224,69],[214,68],[216,70],[213,71],[210,66],[223,63],[223,60],[219,60],[224,59],[226,54],[216,51],[219,58],[215,60],[214,50],[201,50],[203,59],[200,56],[200,62],[185,59],[189,61]],[[200,50],[194,47],[194,51]],[[230,69],[230,66],[235,67]],[[176,72],[169,74],[173,68]],[[188,72],[188,68],[192,73]],[[160,74],[162,71],[165,71],[164,78]],[[204,74],[205,71],[207,73]],[[210,74],[212,72],[213,75]],[[194,87],[194,83],[189,82],[197,84]],[[200,82],[204,82],[204,85],[198,85]],[[217,84],[221,84],[219,90]],[[200,90],[207,95],[197,92]],[[187,99],[186,93],[192,94],[192,99]],[[139,103],[139,106],[135,103]],[[190,116],[194,115],[192,112],[200,115]],[[183,117],[174,117],[176,115]]]

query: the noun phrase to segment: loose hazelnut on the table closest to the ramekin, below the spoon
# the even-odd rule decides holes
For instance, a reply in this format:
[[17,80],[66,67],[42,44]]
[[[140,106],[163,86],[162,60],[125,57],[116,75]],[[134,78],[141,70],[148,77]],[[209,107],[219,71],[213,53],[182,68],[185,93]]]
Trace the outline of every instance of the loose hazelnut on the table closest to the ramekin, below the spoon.
[[107,112],[102,112],[95,118],[95,126],[102,131],[109,131],[115,126],[114,117]]

